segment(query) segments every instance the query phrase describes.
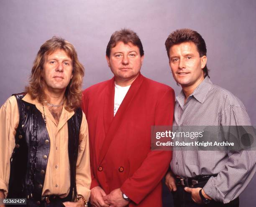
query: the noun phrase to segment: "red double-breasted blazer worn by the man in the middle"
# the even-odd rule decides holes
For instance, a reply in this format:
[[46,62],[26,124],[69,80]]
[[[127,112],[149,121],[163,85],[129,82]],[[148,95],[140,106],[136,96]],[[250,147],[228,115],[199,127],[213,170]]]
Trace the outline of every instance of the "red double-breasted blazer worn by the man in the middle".
[[151,151],[151,126],[172,125],[174,90],[141,74],[114,117],[114,78],[83,91],[89,127],[92,185],[121,188],[129,207],[161,207],[161,179],[171,151]]

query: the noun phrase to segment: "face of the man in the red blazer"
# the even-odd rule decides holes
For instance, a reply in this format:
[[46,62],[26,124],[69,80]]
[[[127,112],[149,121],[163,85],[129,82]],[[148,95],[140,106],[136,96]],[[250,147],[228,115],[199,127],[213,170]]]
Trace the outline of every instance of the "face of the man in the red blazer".
[[108,66],[115,75],[115,82],[120,86],[128,86],[137,78],[144,56],[132,43],[118,42],[111,48],[110,57],[106,56]]

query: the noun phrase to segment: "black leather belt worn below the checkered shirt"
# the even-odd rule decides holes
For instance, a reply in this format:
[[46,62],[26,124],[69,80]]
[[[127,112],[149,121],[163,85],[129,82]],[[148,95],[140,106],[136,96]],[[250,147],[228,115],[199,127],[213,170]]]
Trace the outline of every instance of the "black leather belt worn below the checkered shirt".
[[196,177],[188,177],[188,178],[182,178],[179,176],[176,176],[176,184],[182,185],[185,187],[193,187],[196,184],[200,184],[203,182],[206,182],[210,177],[216,177],[218,174],[211,174],[211,175],[198,175]]

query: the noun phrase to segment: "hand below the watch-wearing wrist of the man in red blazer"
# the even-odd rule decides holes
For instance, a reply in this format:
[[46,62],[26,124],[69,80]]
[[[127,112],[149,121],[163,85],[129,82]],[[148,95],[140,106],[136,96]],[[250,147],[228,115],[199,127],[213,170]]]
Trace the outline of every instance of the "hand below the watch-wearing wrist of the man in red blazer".
[[103,199],[107,204],[110,204],[109,207],[125,207],[129,204],[129,201],[123,199],[120,188],[111,191],[107,196],[103,196]]

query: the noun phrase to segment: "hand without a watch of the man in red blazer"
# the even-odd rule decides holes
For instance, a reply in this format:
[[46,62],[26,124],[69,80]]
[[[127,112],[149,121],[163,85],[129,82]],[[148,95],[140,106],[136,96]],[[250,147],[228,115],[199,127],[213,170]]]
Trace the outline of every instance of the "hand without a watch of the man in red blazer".
[[90,197],[90,203],[92,204],[92,207],[109,207],[109,204],[106,204],[103,199],[103,196],[106,195],[107,194],[100,186],[92,188]]

